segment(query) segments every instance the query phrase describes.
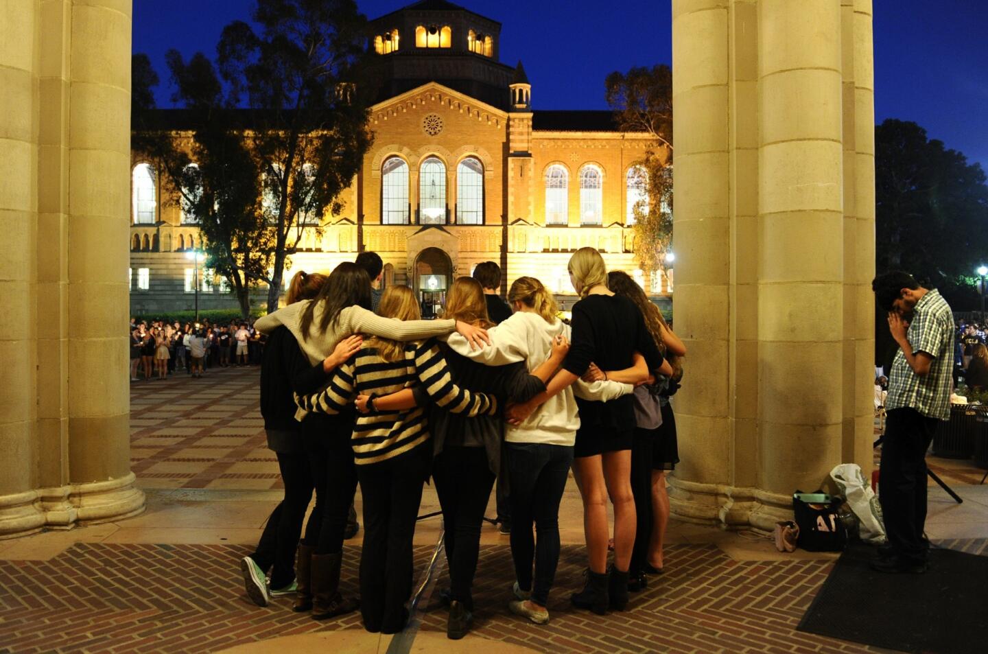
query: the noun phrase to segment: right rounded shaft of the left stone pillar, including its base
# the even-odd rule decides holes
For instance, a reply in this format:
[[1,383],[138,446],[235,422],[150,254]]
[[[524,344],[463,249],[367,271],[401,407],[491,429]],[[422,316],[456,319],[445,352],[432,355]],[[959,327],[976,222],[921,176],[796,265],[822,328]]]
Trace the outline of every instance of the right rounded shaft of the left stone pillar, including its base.
[[129,465],[130,2],[74,0],[68,153],[69,478],[78,520],[143,510]]

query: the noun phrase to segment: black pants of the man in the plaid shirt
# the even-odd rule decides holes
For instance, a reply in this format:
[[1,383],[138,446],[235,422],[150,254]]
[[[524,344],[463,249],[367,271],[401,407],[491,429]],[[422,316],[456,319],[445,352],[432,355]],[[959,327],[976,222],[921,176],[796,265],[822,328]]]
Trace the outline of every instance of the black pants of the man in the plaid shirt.
[[927,557],[926,452],[939,422],[915,409],[892,409],[885,419],[878,501],[888,542],[906,563],[922,563]]

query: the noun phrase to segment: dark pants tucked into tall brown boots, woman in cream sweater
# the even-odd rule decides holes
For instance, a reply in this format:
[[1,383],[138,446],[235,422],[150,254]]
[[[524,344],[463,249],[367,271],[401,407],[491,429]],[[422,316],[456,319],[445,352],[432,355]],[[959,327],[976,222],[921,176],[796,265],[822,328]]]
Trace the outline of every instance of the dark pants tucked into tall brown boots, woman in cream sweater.
[[353,421],[343,416],[310,415],[302,421],[302,446],[315,483],[315,507],[302,542],[315,547],[316,554],[343,551],[343,532],[357,490],[352,435]]

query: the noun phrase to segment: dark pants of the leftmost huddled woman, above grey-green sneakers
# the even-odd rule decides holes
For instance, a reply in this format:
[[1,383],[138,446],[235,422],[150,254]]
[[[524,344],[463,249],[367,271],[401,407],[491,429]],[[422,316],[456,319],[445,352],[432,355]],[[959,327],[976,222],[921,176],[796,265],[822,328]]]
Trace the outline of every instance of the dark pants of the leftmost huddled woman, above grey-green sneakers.
[[274,566],[271,587],[285,588],[295,578],[295,547],[312,499],[312,475],[308,457],[301,452],[278,452],[278,467],[285,482],[285,499],[275,507],[250,557],[265,572]]

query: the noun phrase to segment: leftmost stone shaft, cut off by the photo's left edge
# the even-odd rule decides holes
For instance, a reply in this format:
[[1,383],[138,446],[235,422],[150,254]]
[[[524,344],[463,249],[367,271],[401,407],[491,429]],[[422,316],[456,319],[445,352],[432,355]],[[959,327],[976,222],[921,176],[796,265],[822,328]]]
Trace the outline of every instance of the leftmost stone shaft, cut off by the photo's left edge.
[[44,524],[35,506],[35,251],[38,224],[39,3],[0,15],[0,536]]

